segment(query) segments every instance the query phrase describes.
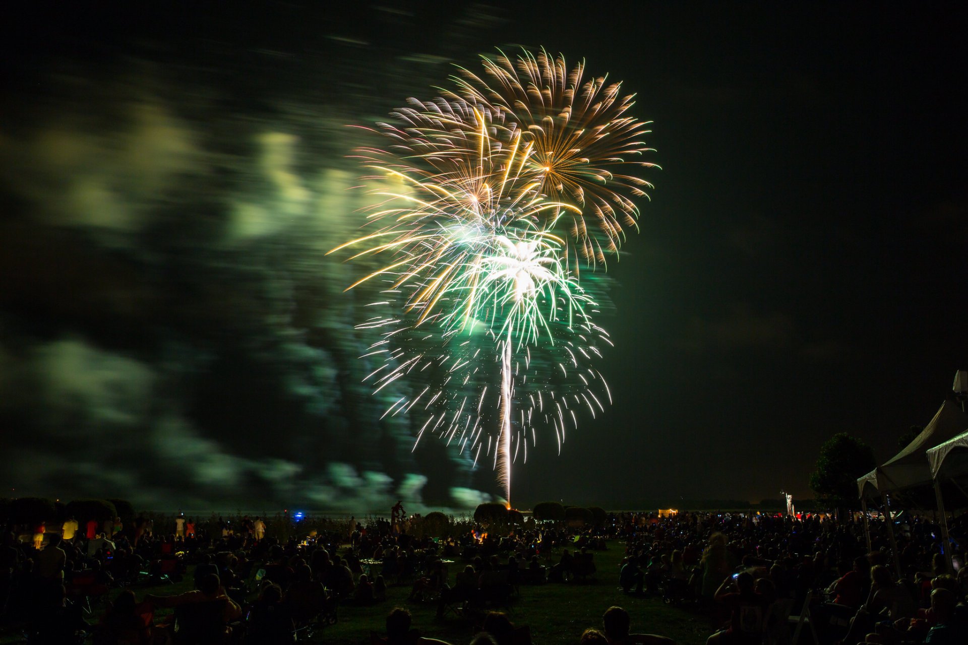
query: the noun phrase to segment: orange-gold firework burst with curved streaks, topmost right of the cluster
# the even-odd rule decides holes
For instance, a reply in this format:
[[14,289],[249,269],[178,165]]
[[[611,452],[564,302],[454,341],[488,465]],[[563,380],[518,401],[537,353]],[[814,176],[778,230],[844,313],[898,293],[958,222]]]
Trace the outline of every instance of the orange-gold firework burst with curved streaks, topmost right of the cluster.
[[605,262],[618,250],[623,225],[637,225],[639,210],[627,195],[648,198],[652,188],[629,171],[657,167],[643,159],[653,152],[643,140],[650,122],[626,114],[635,96],[622,96],[621,83],[605,76],[585,79],[584,62],[569,70],[563,56],[544,50],[516,60],[481,58],[485,75],[462,70],[455,96],[494,105],[507,132],[521,132],[539,191],[581,207],[569,218],[570,233],[587,259]]

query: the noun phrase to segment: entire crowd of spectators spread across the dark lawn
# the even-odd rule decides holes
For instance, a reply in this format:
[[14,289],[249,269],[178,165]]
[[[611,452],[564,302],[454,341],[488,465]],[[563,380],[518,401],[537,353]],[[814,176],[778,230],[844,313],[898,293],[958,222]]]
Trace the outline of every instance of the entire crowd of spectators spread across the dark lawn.
[[[527,626],[513,626],[500,609],[521,597],[522,585],[594,575],[594,553],[609,544],[623,557],[614,571],[597,570],[599,582],[616,584],[630,601],[661,597],[708,618],[710,645],[789,642],[791,614],[808,615],[823,645],[968,642],[968,571],[949,571],[962,561],[963,522],[950,527],[943,554],[929,518],[905,517],[896,524],[896,560],[884,522],[871,522],[868,546],[859,518],[829,515],[618,513],[593,528],[529,519],[437,539],[419,530],[419,517],[353,517],[321,531],[293,525],[283,540],[267,535],[260,518],[178,515],[161,533],[143,518],[129,524],[111,519],[81,530],[69,518],[61,533],[42,534],[40,548],[36,529],[34,540],[5,533],[0,615],[37,643],[87,635],[105,645],[166,643],[176,621],[209,642],[276,643],[335,621],[337,605],[358,605],[389,612],[385,636],[373,639],[431,642],[411,629],[406,610],[387,606],[388,585],[406,585],[408,601],[432,603],[437,620],[453,613],[476,624],[476,645],[526,645]],[[191,591],[165,595],[154,586],[137,600],[141,583],[181,576]],[[630,620],[612,607],[600,629],[575,640],[671,642],[631,634]]]

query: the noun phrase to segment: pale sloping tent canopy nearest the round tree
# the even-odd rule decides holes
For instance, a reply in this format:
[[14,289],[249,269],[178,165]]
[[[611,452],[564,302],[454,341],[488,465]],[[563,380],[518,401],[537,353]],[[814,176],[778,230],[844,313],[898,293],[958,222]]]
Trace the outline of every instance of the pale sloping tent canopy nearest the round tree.
[[933,474],[927,451],[964,433],[966,429],[968,415],[961,411],[957,403],[946,400],[921,434],[904,450],[858,479],[861,497],[875,497],[884,492],[931,484]]

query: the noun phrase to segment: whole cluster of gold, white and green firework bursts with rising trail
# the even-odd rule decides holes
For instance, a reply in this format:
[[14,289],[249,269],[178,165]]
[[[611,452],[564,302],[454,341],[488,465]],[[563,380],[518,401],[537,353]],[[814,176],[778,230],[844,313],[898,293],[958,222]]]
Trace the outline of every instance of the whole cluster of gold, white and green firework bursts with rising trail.
[[[601,410],[601,400],[611,402],[601,374],[586,366],[601,356],[597,342],[611,341],[591,322],[597,306],[579,280],[578,256],[604,263],[622,224],[638,217],[625,193],[648,196],[647,182],[610,168],[654,164],[637,159],[650,152],[640,140],[648,124],[625,115],[633,97],[620,98],[620,84],[583,81],[584,64],[569,71],[544,51],[517,65],[503,54],[483,64],[488,82],[465,70],[444,98],[410,100],[393,113],[396,124],[378,124],[389,150],[356,156],[372,179],[398,188],[373,191],[367,220],[378,230],[330,252],[391,257],[348,287],[382,283],[372,305],[390,309],[358,326],[379,334],[364,356],[383,365],[365,380],[375,394],[387,389],[384,416],[422,411],[417,441],[426,431],[448,445],[456,439],[475,464],[482,432],[493,427],[487,454],[494,447],[509,504],[511,463],[528,430],[534,445],[539,420],[553,427],[560,451],[565,416],[578,423],[574,407],[584,401],[593,417],[592,400]],[[411,373],[424,386],[415,397],[400,385]],[[485,405],[493,377],[497,418]]]

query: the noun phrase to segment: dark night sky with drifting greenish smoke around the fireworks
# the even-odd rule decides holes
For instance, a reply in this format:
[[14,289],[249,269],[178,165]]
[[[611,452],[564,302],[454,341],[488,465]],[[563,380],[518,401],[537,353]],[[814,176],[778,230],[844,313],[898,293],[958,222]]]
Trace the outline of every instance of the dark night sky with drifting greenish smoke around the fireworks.
[[[394,430],[359,429],[372,402],[340,363],[355,351],[350,273],[306,268],[314,243],[287,226],[310,216],[287,208],[295,182],[345,224],[353,206],[318,180],[356,172],[342,125],[432,98],[451,62],[495,45],[623,80],[663,167],[610,267],[617,348],[599,369],[615,404],[560,456],[553,441],[529,454],[516,505],[808,496],[834,432],[886,459],[968,366],[968,24],[954,5],[248,7],[57,7],[5,27],[0,461],[15,494],[140,486],[146,504],[202,504],[271,480],[275,501],[312,480],[300,499],[322,507],[345,494],[339,462],[389,474],[359,502],[378,506],[408,473],[425,492],[457,478],[425,446],[394,472]],[[262,214],[246,220],[258,234],[238,233],[238,213]],[[333,284],[306,295],[323,273]],[[271,293],[276,307],[280,289],[285,330],[253,304]],[[173,426],[178,450],[218,458],[169,454]],[[260,480],[267,468],[279,475]],[[496,492],[473,477],[460,485]]]

